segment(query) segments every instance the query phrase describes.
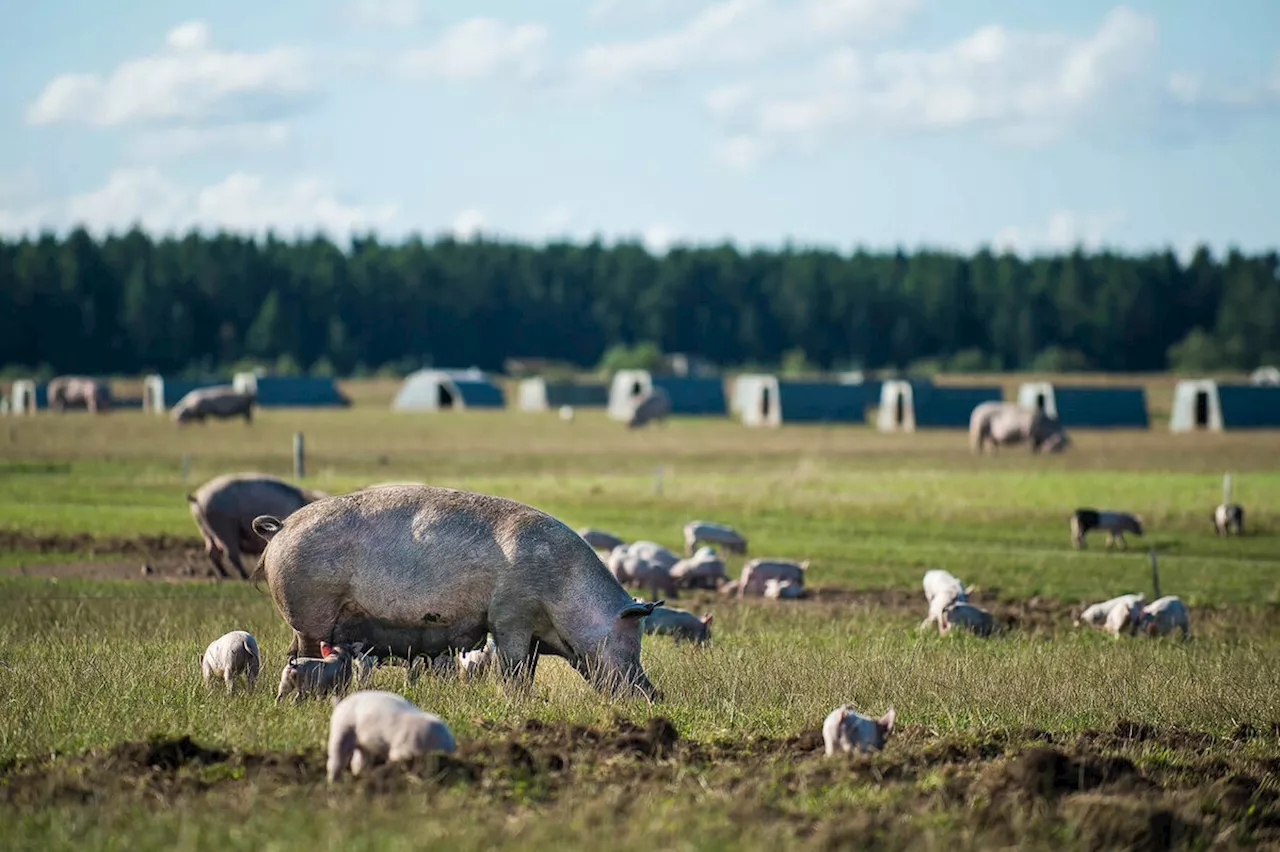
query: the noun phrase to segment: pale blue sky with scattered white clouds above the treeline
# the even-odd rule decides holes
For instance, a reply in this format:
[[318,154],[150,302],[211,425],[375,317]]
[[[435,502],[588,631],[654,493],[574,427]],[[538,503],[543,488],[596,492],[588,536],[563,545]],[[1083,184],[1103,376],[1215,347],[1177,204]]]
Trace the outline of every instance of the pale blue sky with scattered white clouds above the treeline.
[[1274,0],[536,5],[18,6],[0,232],[1277,243]]

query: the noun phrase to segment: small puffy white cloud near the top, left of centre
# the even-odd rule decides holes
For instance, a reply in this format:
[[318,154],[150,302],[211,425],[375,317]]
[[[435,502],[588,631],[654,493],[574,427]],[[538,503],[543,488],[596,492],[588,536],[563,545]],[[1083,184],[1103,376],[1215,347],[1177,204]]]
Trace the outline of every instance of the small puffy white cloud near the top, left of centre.
[[419,78],[531,78],[545,67],[547,41],[541,24],[470,18],[445,29],[434,43],[403,54],[399,68]]

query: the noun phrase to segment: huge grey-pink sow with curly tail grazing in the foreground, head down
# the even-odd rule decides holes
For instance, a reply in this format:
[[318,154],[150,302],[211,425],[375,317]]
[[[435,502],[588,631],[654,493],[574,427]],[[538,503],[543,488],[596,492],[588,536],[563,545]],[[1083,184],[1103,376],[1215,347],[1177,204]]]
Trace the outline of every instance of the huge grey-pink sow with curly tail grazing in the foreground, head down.
[[253,521],[271,596],[303,651],[366,641],[378,656],[476,647],[520,687],[564,658],[598,690],[660,700],[640,664],[641,604],[561,521],[506,498],[388,486]]

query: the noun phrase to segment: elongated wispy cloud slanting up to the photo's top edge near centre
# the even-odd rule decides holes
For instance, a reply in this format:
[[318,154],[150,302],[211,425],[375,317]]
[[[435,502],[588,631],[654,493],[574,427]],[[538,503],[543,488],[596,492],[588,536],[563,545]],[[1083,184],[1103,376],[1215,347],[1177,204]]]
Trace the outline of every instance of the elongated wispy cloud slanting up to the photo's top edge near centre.
[[918,0],[719,0],[684,26],[635,41],[593,45],[571,67],[589,86],[635,86],[692,68],[750,64],[774,54],[868,38],[900,26]]

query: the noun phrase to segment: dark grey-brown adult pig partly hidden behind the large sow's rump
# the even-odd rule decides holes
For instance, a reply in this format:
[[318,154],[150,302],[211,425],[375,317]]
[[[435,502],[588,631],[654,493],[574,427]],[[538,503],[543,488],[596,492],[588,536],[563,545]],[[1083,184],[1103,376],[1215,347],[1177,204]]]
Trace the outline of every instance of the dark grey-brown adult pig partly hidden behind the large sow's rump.
[[209,480],[187,495],[187,508],[205,539],[205,553],[220,577],[228,577],[223,556],[241,580],[248,577],[241,554],[257,555],[266,549],[253,532],[253,518],[270,514],[287,518],[306,504],[326,496],[265,473],[227,473]]

